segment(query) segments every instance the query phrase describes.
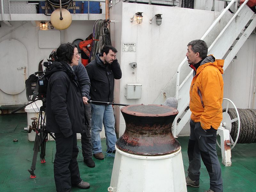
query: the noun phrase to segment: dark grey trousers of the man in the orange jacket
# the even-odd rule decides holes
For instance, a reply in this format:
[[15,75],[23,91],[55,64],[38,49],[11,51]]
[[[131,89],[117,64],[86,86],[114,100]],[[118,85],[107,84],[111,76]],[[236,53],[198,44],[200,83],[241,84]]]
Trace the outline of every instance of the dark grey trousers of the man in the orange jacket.
[[188,177],[199,180],[201,158],[210,176],[210,189],[222,192],[220,162],[216,151],[217,130],[201,127],[200,122],[190,120],[190,136],[188,141]]

